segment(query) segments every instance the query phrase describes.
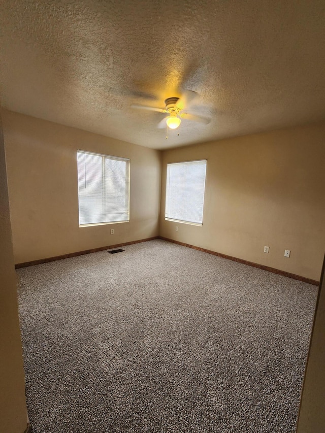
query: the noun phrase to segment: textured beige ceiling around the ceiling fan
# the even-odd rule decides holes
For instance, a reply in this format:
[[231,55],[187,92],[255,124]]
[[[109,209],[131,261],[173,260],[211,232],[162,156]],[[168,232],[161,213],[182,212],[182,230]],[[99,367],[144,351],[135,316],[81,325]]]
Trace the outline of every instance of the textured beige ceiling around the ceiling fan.
[[[13,111],[164,149],[325,118],[323,0],[2,0],[1,100]],[[200,93],[180,135],[157,129]]]

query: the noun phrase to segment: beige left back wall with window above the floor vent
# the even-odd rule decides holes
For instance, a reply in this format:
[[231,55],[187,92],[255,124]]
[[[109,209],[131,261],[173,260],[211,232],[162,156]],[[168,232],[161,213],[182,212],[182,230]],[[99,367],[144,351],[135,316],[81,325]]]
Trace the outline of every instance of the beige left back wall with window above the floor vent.
[[[7,110],[3,119],[15,263],[158,235],[160,152]],[[129,223],[79,227],[78,149],[131,159]]]

